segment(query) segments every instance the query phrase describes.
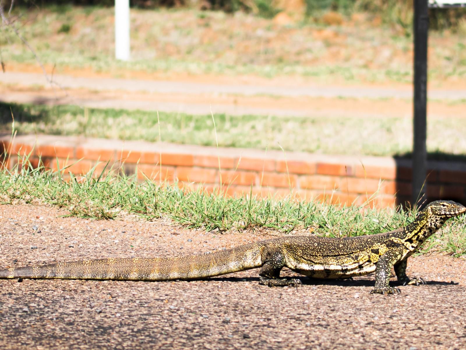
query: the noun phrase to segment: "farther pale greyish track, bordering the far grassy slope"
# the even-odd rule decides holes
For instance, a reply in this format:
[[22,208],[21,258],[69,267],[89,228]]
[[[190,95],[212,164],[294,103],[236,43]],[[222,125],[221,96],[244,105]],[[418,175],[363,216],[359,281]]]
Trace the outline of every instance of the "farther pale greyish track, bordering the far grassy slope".
[[[4,84],[28,84],[47,85],[43,74],[5,72],[0,75]],[[282,97],[325,97],[325,98],[412,98],[411,86],[402,88],[369,86],[369,85],[327,85],[327,84],[292,84],[293,79],[287,85],[268,84],[240,84],[238,82],[221,84],[209,81],[172,81],[172,80],[147,80],[147,79],[123,79],[111,77],[76,77],[71,75],[54,75],[53,80],[64,88],[91,88],[98,90],[123,90],[145,91],[150,93],[183,93],[183,94],[239,94],[243,96],[274,95]],[[464,89],[431,89],[429,98],[434,99],[464,99]]]

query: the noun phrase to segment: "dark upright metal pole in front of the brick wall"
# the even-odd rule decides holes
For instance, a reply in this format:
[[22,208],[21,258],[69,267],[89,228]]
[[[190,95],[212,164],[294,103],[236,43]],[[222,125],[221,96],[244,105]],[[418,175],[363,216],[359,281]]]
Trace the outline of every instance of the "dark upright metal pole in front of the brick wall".
[[427,32],[428,0],[414,1],[414,120],[412,154],[412,201],[425,199],[427,173]]

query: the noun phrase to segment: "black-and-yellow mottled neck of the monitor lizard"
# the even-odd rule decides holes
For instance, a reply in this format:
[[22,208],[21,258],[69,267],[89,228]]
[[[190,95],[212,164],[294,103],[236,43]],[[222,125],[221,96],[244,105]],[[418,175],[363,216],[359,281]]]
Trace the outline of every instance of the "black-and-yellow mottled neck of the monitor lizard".
[[445,218],[430,215],[429,212],[421,212],[416,220],[405,227],[405,242],[414,245],[422,244],[432,236],[445,223]]

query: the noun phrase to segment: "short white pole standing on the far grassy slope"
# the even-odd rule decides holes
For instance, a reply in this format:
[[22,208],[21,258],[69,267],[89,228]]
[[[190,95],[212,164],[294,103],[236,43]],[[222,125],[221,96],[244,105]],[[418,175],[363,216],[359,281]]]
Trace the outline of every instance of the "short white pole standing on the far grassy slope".
[[115,57],[130,59],[130,0],[115,0]]

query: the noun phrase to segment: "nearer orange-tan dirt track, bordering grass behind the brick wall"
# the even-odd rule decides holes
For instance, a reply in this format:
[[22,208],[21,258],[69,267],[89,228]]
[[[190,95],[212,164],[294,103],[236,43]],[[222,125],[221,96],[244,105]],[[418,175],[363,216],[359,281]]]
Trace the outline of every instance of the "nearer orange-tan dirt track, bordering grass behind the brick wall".
[[[1,75],[0,75],[1,77]],[[1,81],[1,80],[0,80]],[[245,96],[239,94],[147,92],[125,90],[94,90],[92,88],[54,91],[49,86],[1,84],[0,101],[45,105],[80,105],[91,108],[163,111],[208,115],[274,115],[282,117],[358,117],[412,118],[409,99],[338,98],[308,96]],[[466,117],[464,103],[430,100],[429,117]]]

